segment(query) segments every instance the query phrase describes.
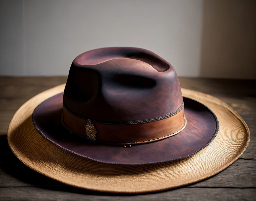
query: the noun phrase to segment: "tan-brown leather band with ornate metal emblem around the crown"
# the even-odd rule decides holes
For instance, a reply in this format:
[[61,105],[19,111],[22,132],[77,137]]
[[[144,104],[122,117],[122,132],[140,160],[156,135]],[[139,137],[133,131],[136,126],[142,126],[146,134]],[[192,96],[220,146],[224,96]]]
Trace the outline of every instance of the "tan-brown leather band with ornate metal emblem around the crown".
[[[107,144],[141,144],[173,136],[183,130],[187,124],[184,105],[168,118],[140,121],[143,123],[105,123],[92,121],[72,114],[63,106],[61,122],[71,133],[92,141]],[[165,115],[167,116],[167,115]],[[149,121],[149,122],[148,122]],[[145,122],[145,123],[144,123]]]

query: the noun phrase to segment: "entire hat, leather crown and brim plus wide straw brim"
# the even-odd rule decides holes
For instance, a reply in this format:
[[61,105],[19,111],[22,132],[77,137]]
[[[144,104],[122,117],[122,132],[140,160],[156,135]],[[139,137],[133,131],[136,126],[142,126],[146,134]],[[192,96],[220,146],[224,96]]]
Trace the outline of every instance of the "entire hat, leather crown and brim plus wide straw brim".
[[37,172],[119,193],[208,178],[233,163],[250,139],[231,107],[181,89],[170,63],[131,47],[77,56],[66,85],[23,104],[7,133],[14,154]]

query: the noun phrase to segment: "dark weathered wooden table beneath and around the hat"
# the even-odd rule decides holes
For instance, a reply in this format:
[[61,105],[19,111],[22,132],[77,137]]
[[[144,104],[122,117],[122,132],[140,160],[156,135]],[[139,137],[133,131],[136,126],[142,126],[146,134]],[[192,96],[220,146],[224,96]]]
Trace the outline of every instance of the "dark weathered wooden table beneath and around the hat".
[[151,194],[110,194],[73,188],[47,178],[19,161],[7,144],[15,111],[36,94],[67,77],[0,77],[0,200],[255,200],[256,81],[180,78],[181,87],[213,95],[234,108],[248,124],[251,141],[243,155],[204,181]]

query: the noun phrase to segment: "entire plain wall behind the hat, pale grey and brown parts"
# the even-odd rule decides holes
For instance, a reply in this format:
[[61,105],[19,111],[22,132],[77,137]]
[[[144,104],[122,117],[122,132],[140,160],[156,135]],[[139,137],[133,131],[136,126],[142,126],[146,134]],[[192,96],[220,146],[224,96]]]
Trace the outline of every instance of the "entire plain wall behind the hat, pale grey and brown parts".
[[256,1],[0,1],[0,75],[68,75],[100,47],[141,47],[178,76],[256,78]]

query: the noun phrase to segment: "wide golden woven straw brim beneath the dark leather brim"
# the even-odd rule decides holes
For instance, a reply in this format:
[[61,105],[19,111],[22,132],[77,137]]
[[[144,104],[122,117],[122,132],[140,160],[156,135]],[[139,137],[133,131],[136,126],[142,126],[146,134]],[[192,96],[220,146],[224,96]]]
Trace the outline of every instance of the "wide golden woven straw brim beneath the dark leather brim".
[[116,193],[154,192],[191,184],[217,174],[245,151],[250,132],[244,120],[221,100],[182,89],[182,94],[208,106],[220,127],[213,142],[185,159],[159,164],[116,165],[94,162],[61,150],[34,128],[32,112],[65,85],[44,91],[23,104],[7,131],[13,153],[27,166],[50,178],[89,190]]

